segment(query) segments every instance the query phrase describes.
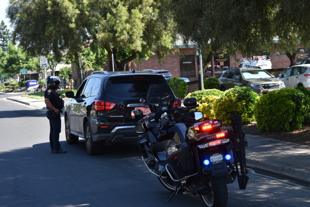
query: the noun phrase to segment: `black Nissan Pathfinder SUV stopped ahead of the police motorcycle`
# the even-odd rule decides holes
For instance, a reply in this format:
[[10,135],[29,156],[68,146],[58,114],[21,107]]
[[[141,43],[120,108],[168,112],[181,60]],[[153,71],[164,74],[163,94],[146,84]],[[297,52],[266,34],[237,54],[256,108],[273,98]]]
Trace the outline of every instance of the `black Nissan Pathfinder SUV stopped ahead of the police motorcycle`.
[[161,74],[151,72],[95,71],[79,87],[77,94],[66,92],[73,98],[64,110],[65,133],[68,144],[85,139],[89,155],[98,154],[102,144],[137,141],[134,127],[138,119],[131,112],[144,108],[150,85],[167,84]]

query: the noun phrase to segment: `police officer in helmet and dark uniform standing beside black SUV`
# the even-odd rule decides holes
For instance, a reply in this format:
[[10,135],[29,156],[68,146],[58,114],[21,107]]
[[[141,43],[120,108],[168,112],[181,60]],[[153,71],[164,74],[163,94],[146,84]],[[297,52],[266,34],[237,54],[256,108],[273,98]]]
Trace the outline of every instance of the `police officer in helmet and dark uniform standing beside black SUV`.
[[59,133],[61,131],[60,112],[64,107],[64,101],[60,94],[56,93],[60,79],[57,76],[48,76],[46,79],[47,90],[44,93],[44,102],[47,107],[46,116],[50,120],[50,144],[52,153],[66,153],[61,149],[59,143]]

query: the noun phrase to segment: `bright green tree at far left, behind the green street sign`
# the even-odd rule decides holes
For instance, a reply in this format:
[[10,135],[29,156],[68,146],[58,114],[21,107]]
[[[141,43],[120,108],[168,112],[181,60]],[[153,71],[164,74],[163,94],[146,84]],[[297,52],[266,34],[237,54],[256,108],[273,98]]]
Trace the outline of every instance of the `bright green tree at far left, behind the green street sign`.
[[22,47],[15,47],[12,43],[9,43],[5,51],[0,53],[0,63],[5,74],[19,76],[20,81],[20,69],[26,68],[31,71],[38,69],[38,60],[29,56]]

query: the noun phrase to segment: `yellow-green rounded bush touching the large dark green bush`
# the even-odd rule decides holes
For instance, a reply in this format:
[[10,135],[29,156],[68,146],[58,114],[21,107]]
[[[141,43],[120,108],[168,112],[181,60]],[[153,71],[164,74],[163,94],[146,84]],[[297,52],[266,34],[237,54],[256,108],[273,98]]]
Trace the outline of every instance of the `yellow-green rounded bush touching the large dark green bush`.
[[212,105],[217,119],[231,124],[231,115],[241,114],[242,124],[254,120],[254,108],[259,96],[252,89],[235,86],[225,91]]

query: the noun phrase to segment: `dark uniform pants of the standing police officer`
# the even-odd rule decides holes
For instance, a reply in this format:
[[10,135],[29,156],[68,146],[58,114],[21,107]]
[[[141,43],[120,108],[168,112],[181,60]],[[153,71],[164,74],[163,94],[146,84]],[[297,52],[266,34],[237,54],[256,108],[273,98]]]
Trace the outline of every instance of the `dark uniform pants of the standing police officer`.
[[46,116],[50,120],[50,144],[52,150],[60,150],[59,133],[61,132],[60,114],[53,118],[53,111],[47,110]]

